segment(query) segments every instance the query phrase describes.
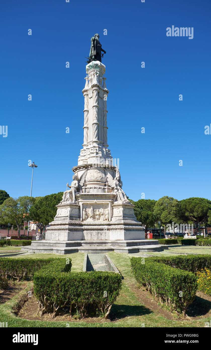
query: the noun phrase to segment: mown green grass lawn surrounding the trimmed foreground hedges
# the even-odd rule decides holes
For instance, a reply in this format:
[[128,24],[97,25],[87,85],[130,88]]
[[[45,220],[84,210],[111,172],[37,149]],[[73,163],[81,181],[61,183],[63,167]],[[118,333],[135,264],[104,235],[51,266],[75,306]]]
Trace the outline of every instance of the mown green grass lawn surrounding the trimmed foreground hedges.
[[[200,314],[197,319],[179,320],[176,316],[171,316],[171,319],[168,319],[168,317],[165,317],[162,312],[159,312],[159,310],[161,310],[159,307],[154,311],[149,306],[146,307],[144,302],[140,300],[137,282],[131,273],[129,255],[115,252],[109,252],[108,255],[123,276],[122,290],[111,309],[111,322],[102,318],[99,318],[99,322],[51,322],[42,320],[29,321],[17,317],[13,313],[13,310],[17,307],[18,301],[23,297],[24,293],[28,294],[28,290],[31,290],[32,282],[27,282],[27,287],[24,290],[19,294],[16,294],[4,304],[0,304],[0,322],[8,322],[8,327],[204,327],[204,323],[210,321],[211,312],[206,313],[206,316],[208,316],[206,318]],[[83,253],[73,253],[65,256],[59,254],[28,254],[22,255],[22,258],[46,258],[52,256],[58,258],[71,258],[72,271],[82,271],[84,259]],[[152,302],[152,296],[148,295],[147,297],[149,298],[148,301]],[[211,302],[204,301],[202,298],[199,299],[201,299],[202,308],[203,303],[205,303],[206,308],[211,310]]]

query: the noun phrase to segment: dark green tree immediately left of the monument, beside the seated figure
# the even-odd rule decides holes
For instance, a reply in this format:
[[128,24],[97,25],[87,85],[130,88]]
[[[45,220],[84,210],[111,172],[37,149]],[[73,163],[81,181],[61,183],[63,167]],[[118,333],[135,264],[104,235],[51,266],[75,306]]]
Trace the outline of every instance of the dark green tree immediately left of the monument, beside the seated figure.
[[62,200],[63,192],[53,193],[45,197],[37,197],[34,205],[29,210],[29,218],[40,230],[53,221],[56,215],[56,205]]

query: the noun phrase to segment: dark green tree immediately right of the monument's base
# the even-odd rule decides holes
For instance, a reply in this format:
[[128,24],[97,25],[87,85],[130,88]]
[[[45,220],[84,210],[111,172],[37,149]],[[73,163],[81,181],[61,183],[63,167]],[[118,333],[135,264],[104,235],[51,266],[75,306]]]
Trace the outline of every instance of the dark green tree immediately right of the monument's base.
[[134,207],[134,214],[138,221],[145,226],[145,233],[147,229],[155,226],[154,207],[155,200],[151,199],[139,199],[137,202],[131,201]]

